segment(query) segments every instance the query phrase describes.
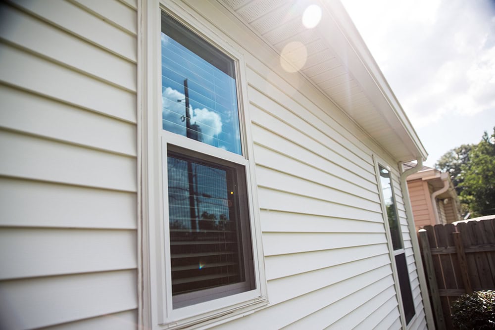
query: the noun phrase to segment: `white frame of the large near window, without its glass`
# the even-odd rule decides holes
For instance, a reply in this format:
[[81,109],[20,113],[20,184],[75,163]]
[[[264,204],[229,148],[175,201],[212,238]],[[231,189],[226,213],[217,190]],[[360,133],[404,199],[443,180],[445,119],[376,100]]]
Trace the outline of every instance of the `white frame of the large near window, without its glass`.
[[[142,185],[142,270],[143,290],[140,319],[150,329],[200,327],[227,322],[268,303],[264,270],[259,207],[254,176],[253,143],[247,103],[246,64],[242,47],[180,1],[149,0],[140,3],[141,42],[138,54],[138,85],[141,104]],[[162,130],[161,112],[161,11],[177,19],[205,39],[236,64],[239,121],[243,155],[194,141]],[[141,64],[141,65],[140,65]],[[138,126],[139,129],[139,126]],[[252,245],[255,289],[178,309],[172,308],[170,244],[168,226],[167,145],[225,159],[246,168],[249,226]],[[139,165],[139,164],[138,164]],[[141,251],[140,251],[141,253]]]

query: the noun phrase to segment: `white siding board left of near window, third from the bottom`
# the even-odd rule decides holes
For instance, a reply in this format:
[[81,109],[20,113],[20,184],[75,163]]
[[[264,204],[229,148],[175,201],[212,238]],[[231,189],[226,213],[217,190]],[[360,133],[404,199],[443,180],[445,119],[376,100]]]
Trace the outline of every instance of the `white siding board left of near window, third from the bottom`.
[[137,267],[136,231],[0,229],[0,280]]

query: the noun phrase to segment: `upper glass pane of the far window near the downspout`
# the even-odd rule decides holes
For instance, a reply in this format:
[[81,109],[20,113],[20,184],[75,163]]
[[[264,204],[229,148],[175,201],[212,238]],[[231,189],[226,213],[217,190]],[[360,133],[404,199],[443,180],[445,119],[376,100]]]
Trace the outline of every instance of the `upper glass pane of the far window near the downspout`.
[[397,218],[396,202],[394,199],[394,190],[392,189],[392,181],[390,171],[379,166],[380,183],[383,192],[383,202],[387,209],[387,218],[389,219],[390,235],[392,236],[392,245],[394,250],[402,248],[402,240],[400,239],[400,225]]

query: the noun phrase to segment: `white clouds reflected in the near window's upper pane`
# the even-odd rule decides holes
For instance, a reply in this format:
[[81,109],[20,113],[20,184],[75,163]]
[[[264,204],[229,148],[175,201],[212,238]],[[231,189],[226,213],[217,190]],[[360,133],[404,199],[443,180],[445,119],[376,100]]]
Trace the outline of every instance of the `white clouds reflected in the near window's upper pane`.
[[[183,136],[186,135],[184,99],[184,94],[170,87],[167,87],[162,94],[163,128]],[[214,137],[222,133],[222,119],[217,113],[206,108],[191,108],[190,114],[191,124],[196,123],[201,129],[203,142],[212,144]]]

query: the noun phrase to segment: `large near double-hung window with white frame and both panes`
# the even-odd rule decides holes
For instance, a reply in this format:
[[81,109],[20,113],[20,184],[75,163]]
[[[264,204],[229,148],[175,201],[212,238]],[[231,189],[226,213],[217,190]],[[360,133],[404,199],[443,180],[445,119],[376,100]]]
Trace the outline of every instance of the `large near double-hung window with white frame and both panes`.
[[186,17],[160,8],[161,223],[149,234],[157,329],[218,322],[266,303],[242,56],[177,10]]

